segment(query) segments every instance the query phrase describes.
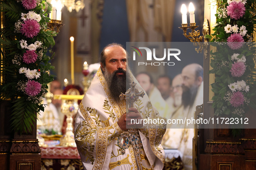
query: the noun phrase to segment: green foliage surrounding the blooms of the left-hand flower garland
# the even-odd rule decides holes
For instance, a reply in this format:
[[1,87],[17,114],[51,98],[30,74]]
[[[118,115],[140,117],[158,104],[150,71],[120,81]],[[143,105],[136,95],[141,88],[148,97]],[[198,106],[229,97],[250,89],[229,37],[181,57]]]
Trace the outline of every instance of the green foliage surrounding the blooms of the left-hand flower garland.
[[[55,44],[55,31],[47,30],[47,22],[50,18],[47,15],[51,12],[52,6],[47,3],[48,9],[45,10],[45,0],[37,3],[34,9],[26,10],[22,1],[17,0],[1,0],[0,11],[3,12],[5,18],[5,27],[0,29],[0,53],[1,58],[1,75],[3,76],[3,83],[0,86],[1,100],[11,100],[13,103],[11,113],[11,127],[14,132],[31,132],[33,123],[36,121],[36,114],[40,110],[44,110],[41,104],[42,97],[47,92],[47,84],[53,80],[53,76],[47,73],[54,66],[51,66],[48,55],[52,53],[51,48]],[[41,20],[38,21],[40,25],[39,33],[27,38],[17,28],[17,23],[23,22],[22,13],[35,12],[40,15]],[[23,61],[23,54],[27,51],[22,48],[20,41],[26,41],[27,45],[34,44],[40,41],[42,44],[37,46],[35,52],[37,59],[34,63],[25,63]],[[36,70],[40,76],[28,78],[26,74],[19,73],[20,68],[29,70]],[[28,80],[40,83],[41,91],[36,95],[27,94],[25,88]]]

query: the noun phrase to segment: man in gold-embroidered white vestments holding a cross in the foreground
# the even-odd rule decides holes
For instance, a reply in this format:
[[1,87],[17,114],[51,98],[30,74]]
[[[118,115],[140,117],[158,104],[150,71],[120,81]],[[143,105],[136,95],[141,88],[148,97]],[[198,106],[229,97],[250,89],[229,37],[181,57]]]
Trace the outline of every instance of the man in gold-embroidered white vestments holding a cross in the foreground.
[[[143,129],[126,129],[130,114],[156,119],[159,113],[146,94],[137,98],[133,108],[129,109],[130,113],[126,113],[126,100],[113,97],[115,89],[110,90],[104,75],[104,72],[110,72],[117,79],[123,76],[124,72],[118,70],[126,71],[126,51],[119,44],[110,44],[104,48],[101,58],[101,67],[81,101],[75,121],[75,141],[84,168],[162,170],[165,161],[160,145],[165,133],[165,129],[161,128],[163,126],[148,124]],[[133,80],[136,83],[135,92],[143,91],[136,79]],[[118,89],[116,87],[116,91]]]

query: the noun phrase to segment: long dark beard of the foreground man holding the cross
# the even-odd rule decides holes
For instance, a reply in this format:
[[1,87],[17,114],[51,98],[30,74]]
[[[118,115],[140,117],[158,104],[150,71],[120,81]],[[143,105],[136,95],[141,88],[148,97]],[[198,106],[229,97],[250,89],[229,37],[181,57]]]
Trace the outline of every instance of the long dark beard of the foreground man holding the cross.
[[[117,76],[117,73],[123,73],[123,75]],[[130,77],[129,75],[130,74],[128,73],[127,76]],[[125,94],[126,92],[126,71],[124,69],[118,69],[111,74],[106,69],[106,71],[104,72],[104,77],[110,90],[111,97],[114,98],[115,101],[120,101],[120,94]],[[130,81],[127,81],[127,83],[130,83]]]

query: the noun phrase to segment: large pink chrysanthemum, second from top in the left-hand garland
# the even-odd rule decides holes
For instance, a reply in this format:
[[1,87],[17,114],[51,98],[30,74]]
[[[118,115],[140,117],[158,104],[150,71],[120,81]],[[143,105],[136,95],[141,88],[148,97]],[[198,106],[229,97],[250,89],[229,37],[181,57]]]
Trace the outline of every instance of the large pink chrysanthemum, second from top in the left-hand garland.
[[20,29],[20,31],[23,35],[26,36],[26,38],[33,38],[40,31],[40,25],[34,19],[24,21],[24,23],[21,26],[22,28]]

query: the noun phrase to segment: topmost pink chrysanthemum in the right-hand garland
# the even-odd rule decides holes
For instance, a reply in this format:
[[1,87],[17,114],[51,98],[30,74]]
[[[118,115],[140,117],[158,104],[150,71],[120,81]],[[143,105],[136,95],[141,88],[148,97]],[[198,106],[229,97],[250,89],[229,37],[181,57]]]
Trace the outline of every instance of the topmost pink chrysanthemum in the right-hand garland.
[[240,19],[245,14],[245,6],[242,2],[232,2],[227,6],[227,15],[231,19]]

